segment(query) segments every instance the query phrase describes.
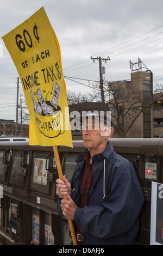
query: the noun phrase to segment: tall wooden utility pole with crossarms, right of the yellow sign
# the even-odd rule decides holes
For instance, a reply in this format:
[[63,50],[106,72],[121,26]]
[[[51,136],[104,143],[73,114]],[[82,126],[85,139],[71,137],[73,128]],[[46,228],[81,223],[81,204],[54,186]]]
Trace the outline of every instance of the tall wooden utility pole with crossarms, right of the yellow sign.
[[99,62],[99,83],[100,83],[100,86],[99,86],[99,89],[101,89],[101,102],[102,102],[102,108],[104,109],[104,106],[105,106],[105,97],[104,97],[104,87],[103,87],[103,75],[102,74],[105,74],[105,70],[104,70],[104,67],[102,68],[102,61],[106,61],[107,60],[110,60],[110,58],[101,58],[101,57],[97,57],[97,58],[92,58],[91,56],[91,59],[93,60],[93,62],[95,63],[95,59],[98,60]]

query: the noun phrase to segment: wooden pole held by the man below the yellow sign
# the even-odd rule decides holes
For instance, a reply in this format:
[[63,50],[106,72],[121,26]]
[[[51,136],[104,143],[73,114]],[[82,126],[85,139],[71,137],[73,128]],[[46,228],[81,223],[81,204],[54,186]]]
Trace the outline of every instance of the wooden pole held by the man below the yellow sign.
[[[59,179],[63,180],[62,169],[61,169],[61,164],[60,164],[60,159],[59,159],[57,146],[53,146],[53,151],[54,151],[55,161],[56,161],[56,164],[57,164]],[[68,200],[66,194],[64,195],[64,199]],[[68,224],[69,224],[70,231],[71,231],[73,245],[77,245],[77,238],[76,238],[76,234],[75,234],[75,231],[74,231],[72,220],[68,220]]]

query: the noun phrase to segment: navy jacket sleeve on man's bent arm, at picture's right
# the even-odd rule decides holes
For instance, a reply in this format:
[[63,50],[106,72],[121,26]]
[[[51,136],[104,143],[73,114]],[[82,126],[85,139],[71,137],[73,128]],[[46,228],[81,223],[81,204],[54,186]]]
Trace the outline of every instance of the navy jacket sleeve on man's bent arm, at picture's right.
[[[126,168],[130,172],[126,172]],[[112,180],[110,193],[102,206],[89,205],[77,208],[74,221],[80,230],[99,239],[122,235],[133,226],[144,202],[139,180],[132,164],[121,166]]]

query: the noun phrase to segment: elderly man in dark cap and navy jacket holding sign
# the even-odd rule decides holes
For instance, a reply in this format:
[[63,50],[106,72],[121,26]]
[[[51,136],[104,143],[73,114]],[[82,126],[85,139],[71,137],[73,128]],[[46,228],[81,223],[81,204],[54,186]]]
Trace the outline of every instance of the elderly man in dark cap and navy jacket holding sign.
[[[85,120],[87,148],[76,160],[70,182],[57,179],[58,213],[73,220],[78,245],[132,245],[139,228],[144,198],[133,165],[116,154],[108,139],[113,127],[97,129]],[[68,200],[62,199],[67,194]]]

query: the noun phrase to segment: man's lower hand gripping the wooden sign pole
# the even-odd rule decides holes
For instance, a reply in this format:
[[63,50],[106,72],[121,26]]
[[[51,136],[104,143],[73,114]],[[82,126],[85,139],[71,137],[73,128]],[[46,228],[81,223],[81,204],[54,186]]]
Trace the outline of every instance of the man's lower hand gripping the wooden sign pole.
[[74,214],[76,212],[76,209],[78,206],[73,202],[72,198],[67,194],[68,200],[62,199],[61,200],[61,210],[62,214],[68,219],[72,220],[74,219]]

